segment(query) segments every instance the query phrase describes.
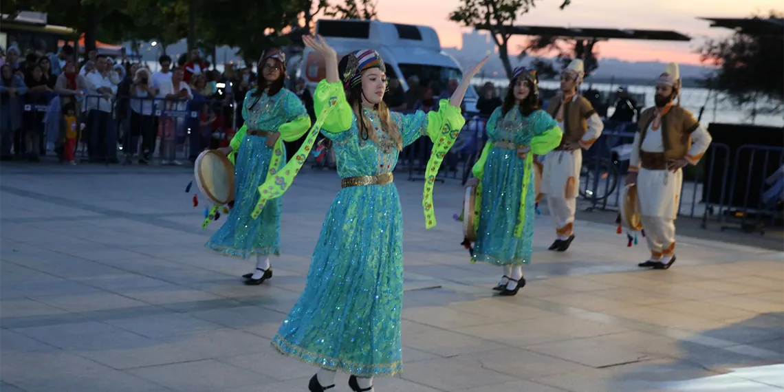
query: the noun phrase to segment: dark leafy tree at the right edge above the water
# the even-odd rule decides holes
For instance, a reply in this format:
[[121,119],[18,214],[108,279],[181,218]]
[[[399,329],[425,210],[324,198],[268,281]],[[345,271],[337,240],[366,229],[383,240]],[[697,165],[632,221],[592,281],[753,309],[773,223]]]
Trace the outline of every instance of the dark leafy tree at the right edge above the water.
[[[784,13],[771,11],[770,17],[782,23]],[[717,67],[706,85],[725,93],[738,106],[753,103],[752,115],[780,112],[784,101],[782,48],[784,38],[780,31],[775,34],[736,31],[728,38],[709,40],[698,50],[702,63]]]

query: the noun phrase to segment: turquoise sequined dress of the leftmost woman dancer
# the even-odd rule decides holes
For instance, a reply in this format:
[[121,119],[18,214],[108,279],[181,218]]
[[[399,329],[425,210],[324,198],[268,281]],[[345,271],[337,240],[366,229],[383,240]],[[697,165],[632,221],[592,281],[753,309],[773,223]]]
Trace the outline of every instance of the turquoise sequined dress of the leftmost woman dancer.
[[[274,96],[245,95],[242,117],[245,127],[234,135],[231,147],[237,154],[234,165],[234,207],[223,226],[207,241],[210,249],[226,256],[243,259],[253,255],[279,255],[281,230],[281,198],[267,201],[259,219],[251,216],[259,199],[258,188],[267,178],[273,149],[267,147],[267,137],[252,136],[245,129],[280,132],[281,140],[297,140],[310,128],[310,117],[295,93],[281,89]],[[275,170],[285,165],[285,146],[281,143],[282,158]]]

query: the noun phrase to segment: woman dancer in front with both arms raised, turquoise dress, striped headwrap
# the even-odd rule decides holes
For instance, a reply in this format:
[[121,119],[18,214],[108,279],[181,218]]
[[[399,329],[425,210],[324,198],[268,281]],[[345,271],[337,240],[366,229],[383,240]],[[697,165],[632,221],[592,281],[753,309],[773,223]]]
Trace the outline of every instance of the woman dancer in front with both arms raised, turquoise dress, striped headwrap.
[[304,41],[325,58],[326,80],[314,103],[317,116],[333,106],[321,132],[332,140],[343,189],[327,212],[305,290],[272,345],[321,368],[310,379],[310,391],[334,387],[337,370],[352,375],[352,390],[372,391],[373,376],[393,376],[402,368],[403,225],[392,183],[397,154],[420,136],[434,142],[423,201],[426,226],[432,227],[434,175],[465,124],[460,103],[481,64],[465,74],[450,100],[441,100],[438,111],[403,115],[383,103],[386,68],[376,51],[350,53],[338,64],[323,39]]

